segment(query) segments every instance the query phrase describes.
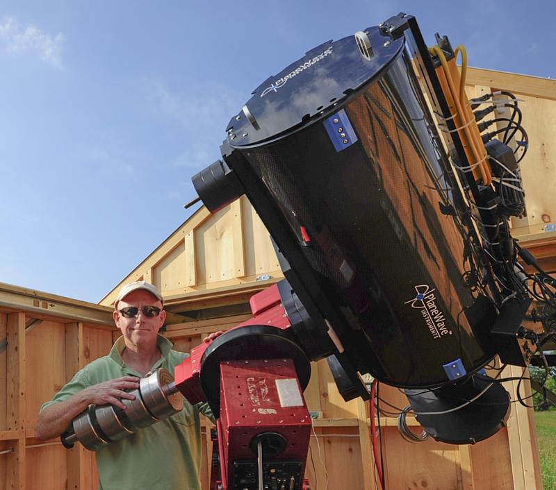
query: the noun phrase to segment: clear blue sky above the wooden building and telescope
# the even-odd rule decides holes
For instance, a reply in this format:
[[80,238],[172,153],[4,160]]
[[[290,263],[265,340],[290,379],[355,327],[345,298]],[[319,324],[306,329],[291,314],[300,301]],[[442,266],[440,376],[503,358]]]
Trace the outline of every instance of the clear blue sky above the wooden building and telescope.
[[556,77],[553,1],[3,1],[0,282],[99,301],[190,216],[250,92],[400,11],[469,65]]

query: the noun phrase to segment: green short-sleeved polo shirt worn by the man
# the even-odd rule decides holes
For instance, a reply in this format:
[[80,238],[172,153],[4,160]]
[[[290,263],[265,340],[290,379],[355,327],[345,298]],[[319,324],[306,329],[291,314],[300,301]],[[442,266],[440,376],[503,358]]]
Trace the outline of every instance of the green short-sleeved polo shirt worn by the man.
[[[162,357],[154,363],[151,371],[163,367],[173,375],[174,367],[189,354],[172,350],[172,343],[161,335],[158,335],[157,344]],[[108,355],[78,371],[51,401],[42,405],[41,410],[103,381],[126,375],[140,378],[140,373],[122,361],[124,347],[124,337],[120,337]],[[199,411],[212,417],[206,403],[191,405],[184,400],[181,412],[97,450],[99,489],[201,490]]]

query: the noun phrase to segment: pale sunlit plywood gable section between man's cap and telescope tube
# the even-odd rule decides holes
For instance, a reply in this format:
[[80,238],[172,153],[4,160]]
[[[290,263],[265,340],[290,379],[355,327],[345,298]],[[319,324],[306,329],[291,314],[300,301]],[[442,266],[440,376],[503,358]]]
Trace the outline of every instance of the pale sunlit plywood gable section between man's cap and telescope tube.
[[238,288],[283,277],[270,236],[242,196],[215,214],[201,208],[101,301],[111,305],[126,282],[147,280],[165,298]]

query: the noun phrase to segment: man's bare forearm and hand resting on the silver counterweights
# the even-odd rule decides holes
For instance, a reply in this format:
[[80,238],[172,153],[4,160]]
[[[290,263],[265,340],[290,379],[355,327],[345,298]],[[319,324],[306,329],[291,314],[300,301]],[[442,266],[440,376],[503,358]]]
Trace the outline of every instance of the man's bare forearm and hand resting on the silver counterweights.
[[58,437],[67,429],[75,416],[81,414],[91,403],[95,405],[111,403],[115,407],[125,409],[126,406],[120,398],[134,400],[135,396],[123,390],[138,387],[139,378],[124,376],[82,389],[70,398],[48,405],[39,414],[35,425],[35,437],[41,441]]

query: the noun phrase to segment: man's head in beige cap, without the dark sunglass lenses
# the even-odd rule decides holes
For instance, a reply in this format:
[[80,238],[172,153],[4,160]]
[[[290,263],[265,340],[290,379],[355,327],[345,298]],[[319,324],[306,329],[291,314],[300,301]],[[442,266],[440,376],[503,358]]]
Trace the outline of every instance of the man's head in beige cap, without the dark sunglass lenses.
[[[113,312],[113,318],[117,328],[124,335],[126,345],[147,346],[156,343],[156,334],[164,324],[166,312],[161,310],[158,316],[151,318],[142,312],[145,306],[156,306],[162,309],[161,301],[145,289],[137,289],[117,303],[117,311]],[[137,316],[125,318],[121,311],[126,307],[138,308]]]

